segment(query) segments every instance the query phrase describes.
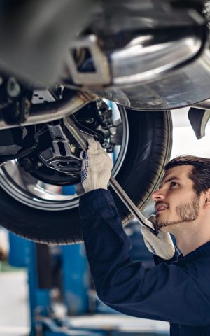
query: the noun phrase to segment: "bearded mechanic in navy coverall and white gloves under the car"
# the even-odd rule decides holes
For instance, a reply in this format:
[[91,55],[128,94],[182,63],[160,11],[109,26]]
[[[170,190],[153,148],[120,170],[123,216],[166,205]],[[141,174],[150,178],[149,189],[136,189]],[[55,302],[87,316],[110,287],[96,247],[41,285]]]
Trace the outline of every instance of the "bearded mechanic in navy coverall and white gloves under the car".
[[[142,228],[155,266],[130,258],[130,239],[107,186],[113,162],[88,140],[80,218],[97,294],[123,314],[169,321],[172,336],[210,335],[210,159],[174,158],[153,193],[157,236]],[[174,247],[170,233],[176,238]]]

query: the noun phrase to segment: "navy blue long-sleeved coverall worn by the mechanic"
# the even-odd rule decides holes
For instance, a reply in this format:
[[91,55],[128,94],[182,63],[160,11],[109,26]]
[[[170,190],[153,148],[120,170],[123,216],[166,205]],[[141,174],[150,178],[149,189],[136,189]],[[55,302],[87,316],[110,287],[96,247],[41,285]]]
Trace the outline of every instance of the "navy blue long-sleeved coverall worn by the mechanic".
[[156,257],[145,268],[130,258],[131,242],[109,190],[80,198],[87,258],[97,294],[123,314],[171,323],[172,336],[210,336],[210,242],[177,260]]

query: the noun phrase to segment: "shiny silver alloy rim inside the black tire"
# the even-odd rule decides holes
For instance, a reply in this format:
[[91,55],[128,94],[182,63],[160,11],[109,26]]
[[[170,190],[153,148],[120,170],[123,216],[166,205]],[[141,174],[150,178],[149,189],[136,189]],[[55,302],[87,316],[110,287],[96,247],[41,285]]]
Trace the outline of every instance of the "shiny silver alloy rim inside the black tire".
[[[116,104],[114,104],[116,106]],[[112,174],[116,176],[123,165],[129,140],[129,125],[127,113],[123,106],[118,106],[122,123],[122,143],[118,149]],[[118,145],[119,146],[119,145]],[[35,179],[25,169],[20,167],[18,160],[6,162],[0,169],[0,186],[11,197],[19,202],[41,210],[61,211],[78,207],[79,198],[84,191],[80,183],[73,186],[69,195],[62,193],[61,187]],[[74,189],[74,192],[73,192]]]

